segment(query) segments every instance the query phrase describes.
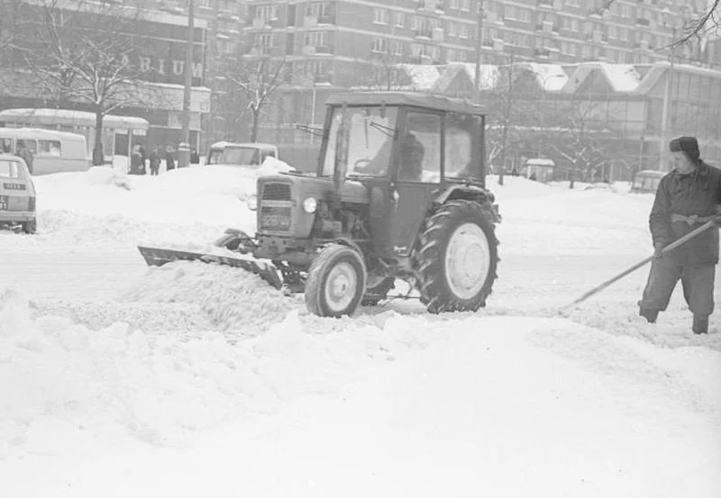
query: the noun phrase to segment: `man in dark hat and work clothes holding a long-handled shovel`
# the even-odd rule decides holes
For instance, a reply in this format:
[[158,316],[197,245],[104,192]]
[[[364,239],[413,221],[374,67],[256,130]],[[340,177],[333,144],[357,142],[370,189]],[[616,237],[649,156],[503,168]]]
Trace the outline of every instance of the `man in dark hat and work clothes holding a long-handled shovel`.
[[701,232],[677,249],[662,249],[721,212],[721,170],[701,160],[698,141],[680,137],[669,143],[674,168],[662,177],[649,216],[655,257],[643,289],[639,314],[654,323],[665,311],[679,279],[693,313],[691,330],[708,333],[714,312],[714,278],[718,263],[718,228]]

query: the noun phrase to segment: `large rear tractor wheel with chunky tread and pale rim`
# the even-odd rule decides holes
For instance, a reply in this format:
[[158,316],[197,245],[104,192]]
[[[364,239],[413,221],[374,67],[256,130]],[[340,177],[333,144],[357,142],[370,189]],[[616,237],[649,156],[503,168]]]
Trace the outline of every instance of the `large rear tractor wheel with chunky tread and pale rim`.
[[414,253],[421,302],[429,312],[475,312],[496,279],[498,241],[483,207],[451,201],[425,223]]

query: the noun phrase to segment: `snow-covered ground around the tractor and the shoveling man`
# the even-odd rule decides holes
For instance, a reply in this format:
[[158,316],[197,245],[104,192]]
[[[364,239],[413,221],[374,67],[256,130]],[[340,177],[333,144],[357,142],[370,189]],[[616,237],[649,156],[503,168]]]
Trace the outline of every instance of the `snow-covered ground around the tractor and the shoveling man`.
[[36,178],[39,233],[0,232],[5,495],[721,495],[718,324],[693,336],[680,292],[638,320],[646,268],[559,312],[648,255],[652,196],[491,180],[478,313],[320,319],[241,270],[145,266],[139,243],[252,232],[253,185]]

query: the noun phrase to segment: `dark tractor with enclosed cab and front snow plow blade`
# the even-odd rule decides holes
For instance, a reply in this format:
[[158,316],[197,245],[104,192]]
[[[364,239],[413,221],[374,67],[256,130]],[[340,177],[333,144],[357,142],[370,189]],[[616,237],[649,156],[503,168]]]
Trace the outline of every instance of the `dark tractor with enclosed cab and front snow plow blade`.
[[397,279],[428,312],[485,306],[501,217],[485,186],[484,109],[410,92],[333,95],[326,107],[316,174],[259,177],[255,236],[215,241],[237,258],[139,247],[146,262],[242,267],[305,293],[324,317],[378,304]]

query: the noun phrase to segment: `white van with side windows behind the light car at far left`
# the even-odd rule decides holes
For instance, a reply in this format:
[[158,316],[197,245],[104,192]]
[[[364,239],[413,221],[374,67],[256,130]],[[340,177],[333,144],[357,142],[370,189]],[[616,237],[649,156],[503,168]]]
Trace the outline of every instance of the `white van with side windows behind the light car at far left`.
[[[30,154],[21,152],[23,149]],[[25,158],[33,176],[87,171],[87,142],[83,135],[41,128],[0,128],[0,154]]]

